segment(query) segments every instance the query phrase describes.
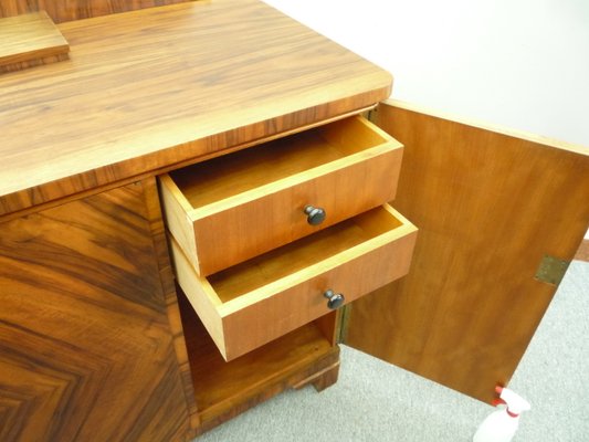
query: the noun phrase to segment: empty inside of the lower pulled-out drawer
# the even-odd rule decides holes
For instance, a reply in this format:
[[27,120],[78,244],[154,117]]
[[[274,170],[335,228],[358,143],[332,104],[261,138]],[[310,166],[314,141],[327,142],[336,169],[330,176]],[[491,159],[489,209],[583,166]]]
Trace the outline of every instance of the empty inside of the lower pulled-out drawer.
[[402,225],[403,221],[390,211],[372,209],[208,276],[214,291],[211,296],[217,296],[219,303],[228,303],[314,264],[334,260],[340,253],[349,253],[353,248],[390,234]]

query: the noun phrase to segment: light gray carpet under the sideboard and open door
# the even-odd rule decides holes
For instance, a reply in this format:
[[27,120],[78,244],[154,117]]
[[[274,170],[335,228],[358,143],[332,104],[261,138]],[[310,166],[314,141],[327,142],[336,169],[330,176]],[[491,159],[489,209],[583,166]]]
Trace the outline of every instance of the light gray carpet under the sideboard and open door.
[[[532,402],[514,442],[589,441],[589,263],[575,261],[509,387]],[[339,381],[287,391],[198,442],[471,441],[493,409],[351,348]]]

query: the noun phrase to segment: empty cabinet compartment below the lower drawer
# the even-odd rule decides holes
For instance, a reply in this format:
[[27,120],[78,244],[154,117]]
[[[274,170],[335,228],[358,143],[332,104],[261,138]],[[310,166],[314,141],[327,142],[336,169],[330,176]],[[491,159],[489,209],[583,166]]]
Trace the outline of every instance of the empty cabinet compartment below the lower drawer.
[[[273,383],[283,382],[285,377],[302,372],[305,367],[337,350],[337,314],[333,312],[227,362],[181,288],[177,287],[177,291],[201,421],[213,420],[240,403],[255,401],[260,394],[272,391],[269,387]],[[274,393],[284,388],[274,386]]]

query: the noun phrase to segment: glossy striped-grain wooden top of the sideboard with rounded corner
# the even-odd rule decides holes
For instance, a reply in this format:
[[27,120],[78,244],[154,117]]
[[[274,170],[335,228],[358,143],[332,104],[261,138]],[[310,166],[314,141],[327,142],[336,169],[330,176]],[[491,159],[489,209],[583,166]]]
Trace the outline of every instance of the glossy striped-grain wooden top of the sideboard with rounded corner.
[[59,29],[69,61],[0,75],[0,214],[390,93],[386,71],[256,0],[180,3]]

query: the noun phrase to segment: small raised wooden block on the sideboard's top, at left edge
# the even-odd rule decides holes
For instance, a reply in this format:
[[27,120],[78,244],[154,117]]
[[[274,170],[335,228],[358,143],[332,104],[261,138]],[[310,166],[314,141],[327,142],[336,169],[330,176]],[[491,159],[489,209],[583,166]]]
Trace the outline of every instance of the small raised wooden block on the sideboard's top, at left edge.
[[0,73],[67,59],[70,45],[46,12],[0,19]]

